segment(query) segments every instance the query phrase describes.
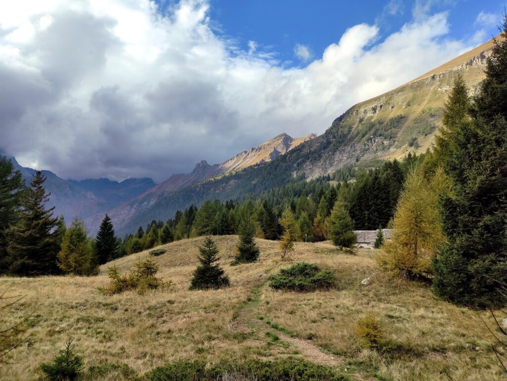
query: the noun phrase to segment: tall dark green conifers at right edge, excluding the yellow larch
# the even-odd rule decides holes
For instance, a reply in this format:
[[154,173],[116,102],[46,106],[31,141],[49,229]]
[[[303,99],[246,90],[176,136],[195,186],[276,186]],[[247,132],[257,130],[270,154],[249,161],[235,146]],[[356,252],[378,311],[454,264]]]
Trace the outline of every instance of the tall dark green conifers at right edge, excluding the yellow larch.
[[440,202],[447,242],[434,261],[433,289],[478,308],[503,304],[507,279],[507,17],[485,73],[471,102],[456,80],[437,141],[453,187]]

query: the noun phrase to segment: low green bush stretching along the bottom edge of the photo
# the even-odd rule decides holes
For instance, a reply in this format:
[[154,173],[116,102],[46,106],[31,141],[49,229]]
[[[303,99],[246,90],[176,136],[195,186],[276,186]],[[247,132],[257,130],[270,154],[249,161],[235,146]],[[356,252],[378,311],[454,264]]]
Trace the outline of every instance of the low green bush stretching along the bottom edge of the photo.
[[208,368],[200,361],[179,361],[160,366],[146,374],[150,381],[215,381],[223,379],[252,379],[263,381],[347,381],[335,370],[300,359],[284,358],[274,361],[250,359],[243,362],[223,361]]

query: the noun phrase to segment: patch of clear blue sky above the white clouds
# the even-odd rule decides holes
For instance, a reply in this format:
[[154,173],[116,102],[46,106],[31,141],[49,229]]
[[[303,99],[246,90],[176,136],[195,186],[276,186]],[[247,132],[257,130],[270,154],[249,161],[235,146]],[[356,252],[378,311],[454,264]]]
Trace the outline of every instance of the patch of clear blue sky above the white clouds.
[[[417,3],[417,4],[416,4]],[[419,12],[449,12],[450,37],[473,36],[471,25],[481,12],[496,14],[498,21],[503,4],[497,0],[461,1],[343,1],[343,0],[211,0],[210,17],[227,36],[238,40],[248,50],[248,41],[258,49],[275,52],[288,65],[306,61],[294,54],[296,44],[307,46],[311,58],[318,57],[345,30],[360,23],[378,24],[380,41],[388,33],[420,15]],[[419,7],[419,8],[417,8]],[[497,34],[494,25],[487,28],[487,38]]]

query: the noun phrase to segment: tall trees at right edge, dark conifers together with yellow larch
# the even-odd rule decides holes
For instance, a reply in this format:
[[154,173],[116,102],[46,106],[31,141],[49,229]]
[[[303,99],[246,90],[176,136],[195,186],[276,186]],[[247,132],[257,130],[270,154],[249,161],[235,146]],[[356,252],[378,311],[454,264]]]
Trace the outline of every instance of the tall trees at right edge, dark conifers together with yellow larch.
[[505,304],[507,279],[507,18],[474,94],[459,75],[436,145],[408,176],[379,264],[427,278],[458,305]]

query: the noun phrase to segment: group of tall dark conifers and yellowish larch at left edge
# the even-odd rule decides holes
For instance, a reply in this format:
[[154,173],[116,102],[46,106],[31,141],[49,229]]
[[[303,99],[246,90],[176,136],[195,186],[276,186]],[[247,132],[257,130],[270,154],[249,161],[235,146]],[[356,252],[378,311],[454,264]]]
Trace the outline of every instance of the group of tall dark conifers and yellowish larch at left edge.
[[98,266],[120,255],[121,240],[106,215],[95,239],[76,218],[46,209],[51,196],[46,177],[35,171],[27,186],[10,160],[0,157],[0,273],[18,276],[93,275]]

